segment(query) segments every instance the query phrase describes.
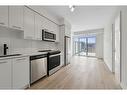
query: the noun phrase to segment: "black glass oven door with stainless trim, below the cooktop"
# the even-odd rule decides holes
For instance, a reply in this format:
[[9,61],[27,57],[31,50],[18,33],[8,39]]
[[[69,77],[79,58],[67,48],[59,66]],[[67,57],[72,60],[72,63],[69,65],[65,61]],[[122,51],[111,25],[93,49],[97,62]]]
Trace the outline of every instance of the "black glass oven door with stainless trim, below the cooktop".
[[50,55],[48,60],[48,75],[53,74],[60,68],[60,54]]

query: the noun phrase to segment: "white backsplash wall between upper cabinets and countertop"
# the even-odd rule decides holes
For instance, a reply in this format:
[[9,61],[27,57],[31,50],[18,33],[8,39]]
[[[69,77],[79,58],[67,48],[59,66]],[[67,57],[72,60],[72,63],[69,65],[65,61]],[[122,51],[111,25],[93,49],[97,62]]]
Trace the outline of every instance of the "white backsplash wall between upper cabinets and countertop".
[[3,54],[3,44],[7,43],[8,53],[34,52],[42,49],[57,49],[53,42],[23,39],[23,31],[0,27],[0,55]]

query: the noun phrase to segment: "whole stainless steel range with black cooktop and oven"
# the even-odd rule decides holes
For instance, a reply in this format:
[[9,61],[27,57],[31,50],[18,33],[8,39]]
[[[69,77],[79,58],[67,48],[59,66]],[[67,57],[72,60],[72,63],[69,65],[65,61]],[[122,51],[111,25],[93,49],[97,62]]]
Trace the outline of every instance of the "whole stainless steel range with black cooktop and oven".
[[60,69],[60,53],[59,50],[42,50],[39,52],[48,52],[48,64],[47,64],[47,74],[51,75]]

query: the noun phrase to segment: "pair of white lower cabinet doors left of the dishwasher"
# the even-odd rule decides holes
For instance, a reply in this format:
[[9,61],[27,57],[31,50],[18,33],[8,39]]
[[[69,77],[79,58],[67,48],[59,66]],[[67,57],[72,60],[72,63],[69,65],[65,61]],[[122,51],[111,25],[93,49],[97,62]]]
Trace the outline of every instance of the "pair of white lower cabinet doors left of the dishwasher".
[[0,60],[0,89],[24,89],[30,83],[29,57]]

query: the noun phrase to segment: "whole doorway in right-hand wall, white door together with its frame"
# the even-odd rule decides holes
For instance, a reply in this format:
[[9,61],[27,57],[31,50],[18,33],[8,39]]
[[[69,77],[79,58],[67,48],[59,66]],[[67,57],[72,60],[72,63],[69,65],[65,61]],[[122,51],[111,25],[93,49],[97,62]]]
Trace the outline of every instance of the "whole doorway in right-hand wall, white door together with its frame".
[[120,13],[115,18],[113,25],[113,72],[115,78],[120,83],[121,81],[121,64],[120,64]]

